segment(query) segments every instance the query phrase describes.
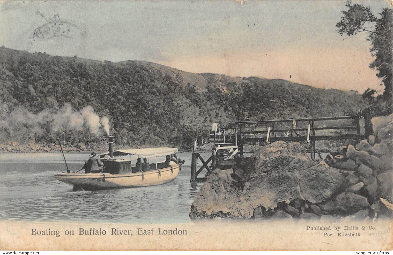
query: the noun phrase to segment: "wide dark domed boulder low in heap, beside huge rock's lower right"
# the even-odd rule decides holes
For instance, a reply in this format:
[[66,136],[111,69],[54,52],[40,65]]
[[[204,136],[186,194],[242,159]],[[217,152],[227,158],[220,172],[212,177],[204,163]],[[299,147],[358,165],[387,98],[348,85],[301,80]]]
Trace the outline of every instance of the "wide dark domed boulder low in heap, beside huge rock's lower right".
[[368,209],[370,204],[367,198],[352,192],[343,192],[337,195],[336,200],[320,205],[321,209],[331,213],[355,213],[361,209]]

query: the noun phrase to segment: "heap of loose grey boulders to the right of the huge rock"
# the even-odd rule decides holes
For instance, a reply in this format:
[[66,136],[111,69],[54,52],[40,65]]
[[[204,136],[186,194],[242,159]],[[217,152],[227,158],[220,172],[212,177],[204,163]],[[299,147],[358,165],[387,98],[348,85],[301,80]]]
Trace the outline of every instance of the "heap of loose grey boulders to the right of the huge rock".
[[373,217],[391,215],[393,153],[390,144],[393,115],[376,117],[371,122],[374,135],[356,145],[349,145],[344,155],[338,155],[340,160],[336,157],[327,160],[329,166],[346,171],[347,185],[345,193],[321,205],[325,211],[346,213],[366,209]]

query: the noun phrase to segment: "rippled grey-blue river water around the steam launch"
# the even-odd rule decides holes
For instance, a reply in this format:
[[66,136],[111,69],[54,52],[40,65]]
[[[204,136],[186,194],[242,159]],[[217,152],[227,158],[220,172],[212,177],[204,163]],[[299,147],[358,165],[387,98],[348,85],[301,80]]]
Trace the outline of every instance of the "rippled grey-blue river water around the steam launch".
[[[0,219],[121,223],[187,223],[202,184],[191,184],[191,153],[168,184],[101,191],[72,191],[53,175],[66,171],[61,153],[0,153]],[[80,169],[90,154],[65,153]],[[206,156],[204,156],[206,157]],[[152,163],[152,162],[151,162]],[[83,170],[82,170],[83,171]]]

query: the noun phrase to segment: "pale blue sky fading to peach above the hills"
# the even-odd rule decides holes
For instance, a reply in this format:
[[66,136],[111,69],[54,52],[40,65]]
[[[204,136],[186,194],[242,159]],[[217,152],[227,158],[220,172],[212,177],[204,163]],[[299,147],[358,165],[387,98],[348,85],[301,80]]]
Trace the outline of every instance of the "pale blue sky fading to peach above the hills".
[[[377,15],[387,0],[352,1]],[[340,36],[345,1],[3,1],[0,45],[193,73],[382,90],[367,34]]]

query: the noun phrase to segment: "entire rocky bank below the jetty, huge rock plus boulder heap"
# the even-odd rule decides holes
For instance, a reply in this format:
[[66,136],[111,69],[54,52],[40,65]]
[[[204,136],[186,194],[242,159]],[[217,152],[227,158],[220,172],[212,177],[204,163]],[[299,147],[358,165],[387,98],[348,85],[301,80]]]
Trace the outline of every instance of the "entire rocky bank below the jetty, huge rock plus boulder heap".
[[274,142],[250,158],[217,164],[191,218],[375,220],[392,217],[393,115],[340,155],[309,158],[297,142]]

